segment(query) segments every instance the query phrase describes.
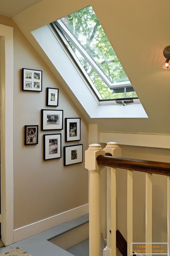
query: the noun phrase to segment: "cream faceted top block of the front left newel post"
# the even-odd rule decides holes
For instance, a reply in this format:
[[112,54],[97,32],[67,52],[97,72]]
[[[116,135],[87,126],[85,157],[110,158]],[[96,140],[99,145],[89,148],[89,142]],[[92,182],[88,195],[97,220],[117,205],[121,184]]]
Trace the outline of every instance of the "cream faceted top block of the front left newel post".
[[89,148],[85,151],[85,168],[92,171],[99,171],[99,166],[96,157],[105,155],[100,144],[90,144]]

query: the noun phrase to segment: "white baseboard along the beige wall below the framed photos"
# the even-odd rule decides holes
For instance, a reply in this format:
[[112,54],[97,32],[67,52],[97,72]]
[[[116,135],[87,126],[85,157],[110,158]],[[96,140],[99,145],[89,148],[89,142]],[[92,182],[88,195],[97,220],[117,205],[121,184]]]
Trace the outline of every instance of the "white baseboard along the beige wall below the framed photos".
[[14,243],[88,213],[88,204],[61,212],[14,230]]

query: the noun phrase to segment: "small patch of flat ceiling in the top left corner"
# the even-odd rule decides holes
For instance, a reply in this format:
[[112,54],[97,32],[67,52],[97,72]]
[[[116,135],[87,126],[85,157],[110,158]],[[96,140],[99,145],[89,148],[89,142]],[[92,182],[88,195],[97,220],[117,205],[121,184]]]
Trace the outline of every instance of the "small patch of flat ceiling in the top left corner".
[[0,0],[0,14],[14,17],[42,0]]

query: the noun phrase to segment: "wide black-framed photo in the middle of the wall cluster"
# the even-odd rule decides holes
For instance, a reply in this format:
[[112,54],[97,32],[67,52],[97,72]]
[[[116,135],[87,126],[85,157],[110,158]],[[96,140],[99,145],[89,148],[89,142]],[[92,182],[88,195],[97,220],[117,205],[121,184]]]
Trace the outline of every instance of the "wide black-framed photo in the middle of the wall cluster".
[[41,130],[62,130],[63,110],[41,109]]

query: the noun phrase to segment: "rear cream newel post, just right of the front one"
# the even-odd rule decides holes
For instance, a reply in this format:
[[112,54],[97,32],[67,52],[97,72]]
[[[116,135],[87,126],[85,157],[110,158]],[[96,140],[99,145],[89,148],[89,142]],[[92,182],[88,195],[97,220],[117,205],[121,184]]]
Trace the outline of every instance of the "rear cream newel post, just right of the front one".
[[[118,143],[108,142],[106,148],[103,149],[105,153],[110,153],[112,156],[121,157],[122,152]],[[111,256],[111,249],[114,251],[112,255],[116,255],[116,230],[117,230],[117,218],[116,218],[116,170],[111,167],[107,167],[107,246],[103,250],[103,256]],[[112,180],[112,185],[111,185]],[[111,195],[112,187],[112,195]],[[111,200],[112,198],[112,200]],[[111,217],[112,208],[112,217]],[[112,225],[111,225],[112,219]],[[113,230],[114,229],[114,230]],[[112,239],[110,230],[112,230]],[[111,241],[112,240],[112,241]],[[111,245],[112,242],[112,245]]]

